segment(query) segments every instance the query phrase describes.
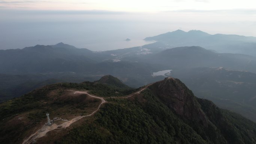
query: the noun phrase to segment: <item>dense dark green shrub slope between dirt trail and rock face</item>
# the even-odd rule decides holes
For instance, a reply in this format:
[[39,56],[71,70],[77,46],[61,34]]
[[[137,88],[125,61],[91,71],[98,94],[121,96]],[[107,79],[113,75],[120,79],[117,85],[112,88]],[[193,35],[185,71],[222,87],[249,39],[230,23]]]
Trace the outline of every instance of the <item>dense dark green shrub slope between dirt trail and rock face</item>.
[[93,123],[72,129],[60,144],[206,144],[152,95],[145,98],[151,98],[145,107],[139,101],[109,99]]

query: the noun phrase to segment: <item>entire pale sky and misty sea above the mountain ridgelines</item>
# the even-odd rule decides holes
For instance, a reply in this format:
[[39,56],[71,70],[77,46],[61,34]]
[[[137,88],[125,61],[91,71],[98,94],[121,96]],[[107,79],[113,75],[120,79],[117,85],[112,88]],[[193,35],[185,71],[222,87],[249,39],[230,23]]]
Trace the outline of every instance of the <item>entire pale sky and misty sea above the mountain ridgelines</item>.
[[[0,49],[68,43],[109,50],[168,31],[256,36],[254,0],[0,0]],[[125,43],[124,39],[132,39]]]

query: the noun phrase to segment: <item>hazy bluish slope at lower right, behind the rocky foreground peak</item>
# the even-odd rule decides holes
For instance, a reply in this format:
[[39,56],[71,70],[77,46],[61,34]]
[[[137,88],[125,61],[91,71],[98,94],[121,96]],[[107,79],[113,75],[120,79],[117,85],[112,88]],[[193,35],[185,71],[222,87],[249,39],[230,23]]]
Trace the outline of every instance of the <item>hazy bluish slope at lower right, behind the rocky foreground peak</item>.
[[226,68],[172,71],[196,96],[256,122],[256,74]]

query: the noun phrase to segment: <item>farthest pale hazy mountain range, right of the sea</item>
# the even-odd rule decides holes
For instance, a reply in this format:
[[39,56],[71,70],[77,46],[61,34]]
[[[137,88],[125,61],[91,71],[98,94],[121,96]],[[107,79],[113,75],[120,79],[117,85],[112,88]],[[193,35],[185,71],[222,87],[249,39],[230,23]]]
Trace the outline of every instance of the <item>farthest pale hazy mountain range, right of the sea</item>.
[[144,40],[156,40],[170,45],[171,48],[180,46],[201,46],[220,53],[241,53],[256,56],[256,37],[246,37],[234,34],[208,34],[199,30],[188,32],[177,30],[146,37]]

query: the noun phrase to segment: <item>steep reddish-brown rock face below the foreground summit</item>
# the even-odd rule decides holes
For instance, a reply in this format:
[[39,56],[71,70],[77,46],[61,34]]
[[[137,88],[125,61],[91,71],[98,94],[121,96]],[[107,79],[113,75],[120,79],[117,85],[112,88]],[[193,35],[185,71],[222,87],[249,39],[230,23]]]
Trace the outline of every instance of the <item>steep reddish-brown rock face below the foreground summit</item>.
[[196,97],[179,79],[172,77],[156,82],[151,87],[161,101],[176,114],[188,120],[202,123],[207,126],[208,120]]

